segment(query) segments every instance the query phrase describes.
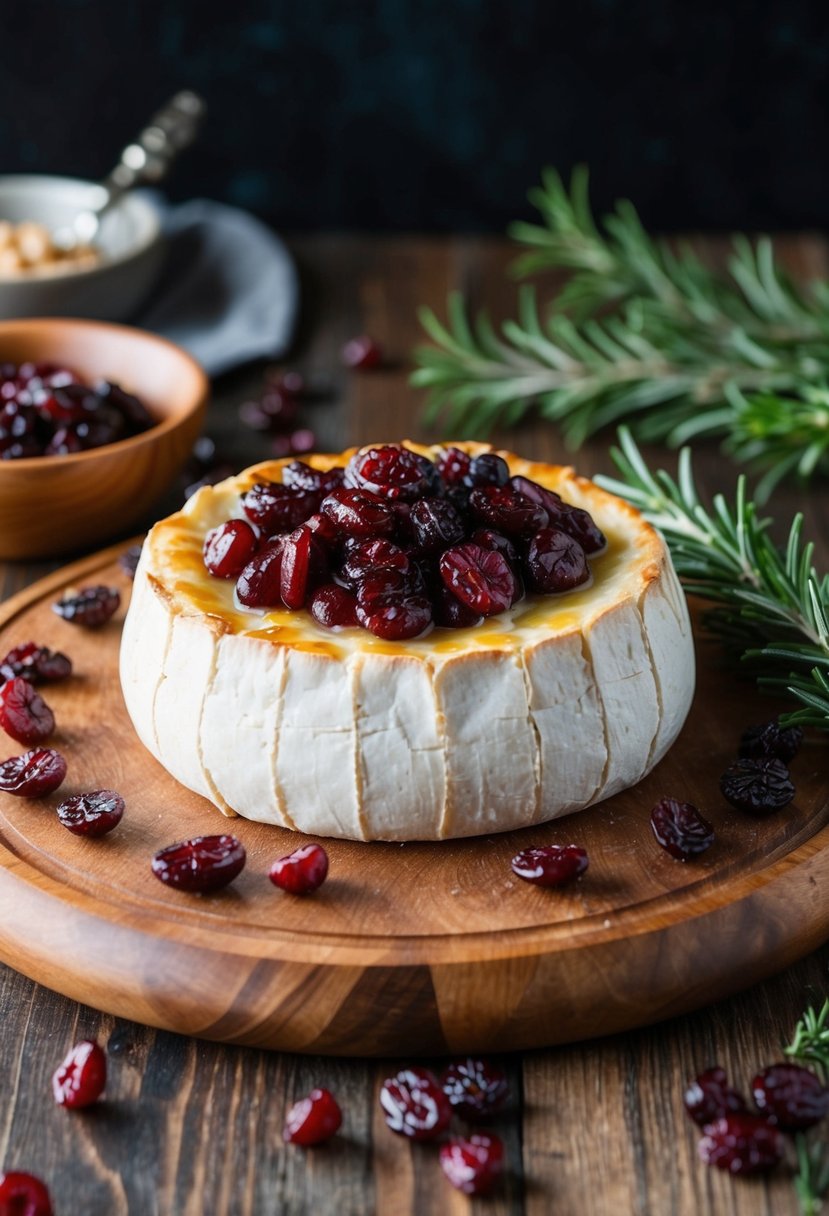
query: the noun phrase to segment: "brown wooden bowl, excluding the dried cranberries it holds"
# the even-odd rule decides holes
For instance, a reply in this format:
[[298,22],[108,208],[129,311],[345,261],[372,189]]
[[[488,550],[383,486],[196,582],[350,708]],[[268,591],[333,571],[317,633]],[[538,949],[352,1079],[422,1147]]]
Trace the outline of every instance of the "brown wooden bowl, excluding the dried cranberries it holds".
[[0,558],[89,548],[146,517],[199,433],[207,376],[165,338],[102,321],[0,322],[0,362],[49,360],[83,379],[113,381],[141,398],[157,424],[69,456],[0,461]]

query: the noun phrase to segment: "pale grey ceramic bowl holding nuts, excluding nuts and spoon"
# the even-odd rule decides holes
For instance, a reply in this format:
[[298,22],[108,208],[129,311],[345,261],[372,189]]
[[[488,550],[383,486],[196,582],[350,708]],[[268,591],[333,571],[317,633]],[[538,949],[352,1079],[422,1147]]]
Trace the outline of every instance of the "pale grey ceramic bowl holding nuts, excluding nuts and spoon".
[[[0,220],[13,224],[34,220],[53,231],[102,198],[101,186],[77,178],[0,175]],[[124,195],[103,218],[97,243],[103,257],[89,269],[0,278],[0,320],[84,316],[123,321],[132,316],[164,257],[158,209],[143,195]]]

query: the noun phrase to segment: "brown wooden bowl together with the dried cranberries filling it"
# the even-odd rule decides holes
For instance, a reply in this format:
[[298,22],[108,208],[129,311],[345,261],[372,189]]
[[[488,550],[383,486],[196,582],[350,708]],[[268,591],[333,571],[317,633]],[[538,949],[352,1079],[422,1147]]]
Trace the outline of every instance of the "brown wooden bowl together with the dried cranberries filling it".
[[142,523],[187,460],[208,381],[184,350],[101,321],[0,322],[0,558]]

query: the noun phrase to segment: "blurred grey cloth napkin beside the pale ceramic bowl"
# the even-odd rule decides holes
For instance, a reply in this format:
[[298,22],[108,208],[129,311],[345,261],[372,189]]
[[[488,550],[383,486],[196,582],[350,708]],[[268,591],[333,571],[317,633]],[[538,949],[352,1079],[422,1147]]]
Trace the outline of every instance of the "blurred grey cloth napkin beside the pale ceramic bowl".
[[156,202],[168,250],[136,325],[184,347],[209,376],[283,355],[299,310],[299,280],[282,241],[236,207],[202,198],[180,207]]

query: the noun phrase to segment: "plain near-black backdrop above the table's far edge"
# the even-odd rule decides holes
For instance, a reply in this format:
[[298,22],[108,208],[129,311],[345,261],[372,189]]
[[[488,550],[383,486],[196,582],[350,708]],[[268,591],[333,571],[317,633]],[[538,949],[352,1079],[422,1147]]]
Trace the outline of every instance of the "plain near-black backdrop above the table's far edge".
[[658,229],[824,227],[829,5],[12,0],[0,165],[101,176],[181,86],[170,182],[282,229],[498,230],[545,164]]

